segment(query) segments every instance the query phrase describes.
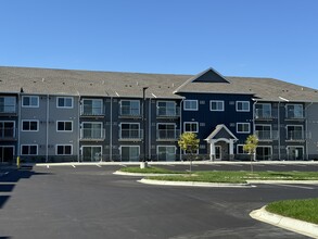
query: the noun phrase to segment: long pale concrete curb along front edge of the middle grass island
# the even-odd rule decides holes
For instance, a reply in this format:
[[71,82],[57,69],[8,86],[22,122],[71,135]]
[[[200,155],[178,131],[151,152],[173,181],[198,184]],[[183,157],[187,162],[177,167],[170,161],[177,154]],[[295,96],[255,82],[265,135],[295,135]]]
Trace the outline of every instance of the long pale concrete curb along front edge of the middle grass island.
[[200,181],[165,181],[142,178],[138,180],[147,185],[164,185],[164,186],[183,186],[183,187],[209,187],[209,188],[254,188],[256,186],[250,184],[227,184],[227,183],[200,183]]

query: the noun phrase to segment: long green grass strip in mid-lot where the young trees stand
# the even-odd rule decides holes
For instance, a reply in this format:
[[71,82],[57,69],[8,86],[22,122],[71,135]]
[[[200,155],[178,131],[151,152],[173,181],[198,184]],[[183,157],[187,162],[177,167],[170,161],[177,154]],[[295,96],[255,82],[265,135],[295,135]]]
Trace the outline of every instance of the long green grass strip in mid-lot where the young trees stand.
[[317,172],[193,172],[189,175],[148,177],[155,180],[246,183],[246,180],[318,180]]

